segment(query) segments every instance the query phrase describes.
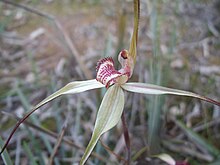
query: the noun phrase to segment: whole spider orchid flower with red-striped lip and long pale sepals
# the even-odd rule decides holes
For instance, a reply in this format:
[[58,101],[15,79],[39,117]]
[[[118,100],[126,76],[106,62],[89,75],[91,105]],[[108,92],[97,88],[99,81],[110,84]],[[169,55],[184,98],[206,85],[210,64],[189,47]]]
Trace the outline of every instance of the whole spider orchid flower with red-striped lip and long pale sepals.
[[39,104],[37,104],[32,109],[32,111],[27,113],[20,121],[18,121],[15,128],[9,135],[5,145],[3,146],[1,153],[3,153],[13,134],[22,122],[24,122],[33,112],[35,112],[41,106],[65,94],[76,94],[97,88],[107,88],[107,91],[103,97],[97,113],[92,137],[80,161],[80,164],[85,164],[101,135],[113,128],[119,122],[125,104],[124,91],[153,95],[172,94],[190,96],[220,106],[220,102],[200,96],[192,92],[171,89],[147,83],[127,82],[132,76],[134,65],[136,63],[136,47],[140,11],[139,6],[139,0],[134,0],[134,30],[129,50],[122,50],[118,55],[118,61],[121,64],[121,69],[115,69],[114,61],[111,57],[99,60],[96,66],[96,79],[71,82],[57,92],[48,96]]

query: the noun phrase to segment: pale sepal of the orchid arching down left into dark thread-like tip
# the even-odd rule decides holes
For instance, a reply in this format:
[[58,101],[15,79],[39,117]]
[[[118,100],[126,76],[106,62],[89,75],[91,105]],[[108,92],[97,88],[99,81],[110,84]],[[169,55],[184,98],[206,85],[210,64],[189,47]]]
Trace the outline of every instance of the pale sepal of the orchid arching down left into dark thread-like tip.
[[103,84],[100,82],[96,81],[95,79],[92,80],[87,80],[87,81],[75,81],[67,84],[57,92],[53,93],[52,95],[48,96],[46,99],[41,101],[39,104],[37,104],[30,112],[28,112],[21,120],[18,121],[18,123],[15,125],[14,129],[12,130],[11,134],[9,135],[5,145],[3,146],[0,154],[4,151],[4,149],[7,147],[9,141],[11,140],[13,134],[19,127],[21,123],[23,123],[32,113],[34,113],[38,108],[43,106],[44,104],[52,101],[53,99],[64,95],[64,94],[75,94],[75,93],[80,93],[84,91],[88,91],[91,89],[96,89],[96,88],[102,88],[104,87]]

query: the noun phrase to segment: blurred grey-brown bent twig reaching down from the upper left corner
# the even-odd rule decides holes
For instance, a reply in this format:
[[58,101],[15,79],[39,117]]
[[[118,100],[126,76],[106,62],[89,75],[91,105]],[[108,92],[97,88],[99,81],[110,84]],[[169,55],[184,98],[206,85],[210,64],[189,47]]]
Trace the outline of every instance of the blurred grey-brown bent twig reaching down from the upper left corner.
[[71,54],[75,57],[77,63],[80,66],[80,69],[83,71],[85,77],[87,79],[91,79],[92,78],[91,71],[88,68],[85,67],[86,65],[84,64],[84,61],[81,59],[80,54],[77,51],[77,49],[75,48],[75,46],[73,45],[70,37],[68,36],[66,31],[63,29],[63,27],[60,24],[60,22],[54,16],[52,16],[52,15],[46,13],[46,12],[39,11],[39,10],[37,10],[35,8],[31,8],[29,6],[26,6],[24,4],[18,4],[18,3],[15,3],[13,1],[9,1],[9,0],[0,0],[0,1],[2,1],[2,2],[6,3],[6,4],[13,5],[15,7],[22,8],[22,9],[24,9],[26,11],[29,11],[29,12],[34,13],[34,14],[37,14],[37,15],[39,15],[41,17],[47,18],[50,21],[52,21],[55,24],[55,26],[57,27],[57,29],[59,30],[59,32],[61,33],[62,37],[64,38],[64,41],[66,42],[66,44],[67,44]]

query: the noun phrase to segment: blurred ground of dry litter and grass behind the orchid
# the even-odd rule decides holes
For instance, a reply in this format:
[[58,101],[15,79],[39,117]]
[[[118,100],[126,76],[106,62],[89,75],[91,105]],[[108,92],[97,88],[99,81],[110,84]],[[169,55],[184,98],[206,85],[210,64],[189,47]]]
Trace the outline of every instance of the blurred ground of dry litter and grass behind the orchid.
[[[219,101],[220,1],[141,0],[140,15],[130,81]],[[95,78],[98,59],[116,60],[129,48],[132,30],[132,0],[0,0],[1,146],[16,121],[46,96],[68,82]],[[4,158],[16,165],[78,163],[104,92],[63,96],[40,108],[19,127]],[[160,153],[190,164],[220,164],[218,106],[126,92],[125,114],[132,164],[162,164],[152,157]],[[101,141],[87,163],[123,164],[121,124]]]

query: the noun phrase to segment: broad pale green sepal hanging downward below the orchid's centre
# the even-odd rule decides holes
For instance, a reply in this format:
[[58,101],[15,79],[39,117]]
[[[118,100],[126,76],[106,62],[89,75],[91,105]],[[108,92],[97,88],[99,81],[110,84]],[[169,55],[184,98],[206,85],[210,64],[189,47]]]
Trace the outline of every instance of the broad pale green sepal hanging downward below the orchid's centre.
[[120,86],[115,84],[107,90],[102,100],[92,137],[80,161],[80,164],[84,164],[86,162],[100,136],[118,123],[121,118],[123,108],[124,92]]

